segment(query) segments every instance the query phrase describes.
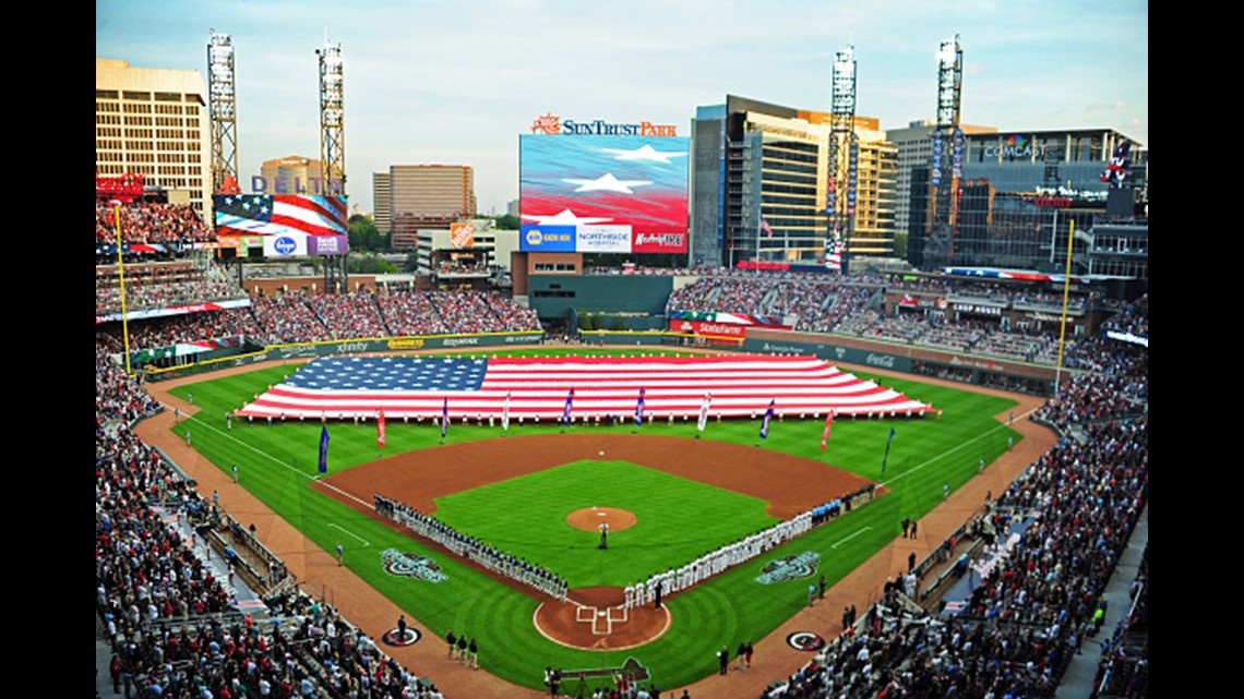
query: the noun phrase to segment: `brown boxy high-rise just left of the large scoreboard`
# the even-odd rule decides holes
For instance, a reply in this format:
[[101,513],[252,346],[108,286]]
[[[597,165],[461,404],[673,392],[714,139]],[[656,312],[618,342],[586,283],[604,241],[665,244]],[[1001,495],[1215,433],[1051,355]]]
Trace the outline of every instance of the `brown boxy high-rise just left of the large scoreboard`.
[[389,211],[394,250],[414,250],[419,229],[448,229],[475,218],[475,170],[470,165],[391,165]]

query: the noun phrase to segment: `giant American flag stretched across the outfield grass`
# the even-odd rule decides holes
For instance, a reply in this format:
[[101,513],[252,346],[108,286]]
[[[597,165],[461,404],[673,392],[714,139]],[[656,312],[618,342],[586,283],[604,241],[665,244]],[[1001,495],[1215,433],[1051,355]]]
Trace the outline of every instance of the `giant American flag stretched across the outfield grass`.
[[[348,419],[539,417],[561,419],[573,392],[575,419],[623,417],[643,389],[653,418],[698,415],[704,396],[723,417],[755,417],[770,402],[782,415],[891,415],[932,408],[816,357],[322,357],[260,394],[251,417]],[[509,402],[506,397],[509,396]],[[445,405],[448,405],[445,408]]]

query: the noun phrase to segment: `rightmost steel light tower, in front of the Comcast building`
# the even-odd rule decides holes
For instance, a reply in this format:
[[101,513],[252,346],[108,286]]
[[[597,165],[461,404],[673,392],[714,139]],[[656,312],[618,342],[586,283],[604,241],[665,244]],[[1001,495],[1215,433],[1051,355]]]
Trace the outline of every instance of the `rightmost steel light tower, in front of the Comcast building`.
[[959,101],[963,95],[963,49],[959,35],[943,41],[937,52],[937,126],[933,128],[933,163],[929,168],[929,252],[942,264],[954,262],[954,229],[958,218],[959,179],[963,177],[963,129]]

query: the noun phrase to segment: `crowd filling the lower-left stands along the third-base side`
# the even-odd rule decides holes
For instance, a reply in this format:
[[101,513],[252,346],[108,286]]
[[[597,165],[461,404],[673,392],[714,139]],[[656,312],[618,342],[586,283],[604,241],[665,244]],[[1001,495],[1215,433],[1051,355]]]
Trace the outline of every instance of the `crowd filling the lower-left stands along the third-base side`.
[[215,502],[132,430],[158,409],[96,343],[96,613],[112,647],[113,692],[136,699],[440,699],[320,599],[238,607],[233,567],[213,556]]

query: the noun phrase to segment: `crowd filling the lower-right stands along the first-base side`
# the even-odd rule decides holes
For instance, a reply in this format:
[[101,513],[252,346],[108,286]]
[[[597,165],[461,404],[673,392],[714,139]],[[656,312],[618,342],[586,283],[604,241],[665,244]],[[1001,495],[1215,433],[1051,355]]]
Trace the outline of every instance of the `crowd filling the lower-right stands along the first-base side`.
[[[1127,351],[1039,412],[1064,437],[989,504],[978,530],[1013,534],[962,611],[926,613],[894,587],[761,697],[1052,697],[1101,632],[1105,585],[1148,500],[1147,376],[1147,353]],[[1130,616],[1141,624],[1144,603]],[[1146,697],[1147,639],[1105,646],[1101,677],[1126,675],[1111,695]]]

